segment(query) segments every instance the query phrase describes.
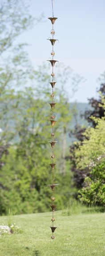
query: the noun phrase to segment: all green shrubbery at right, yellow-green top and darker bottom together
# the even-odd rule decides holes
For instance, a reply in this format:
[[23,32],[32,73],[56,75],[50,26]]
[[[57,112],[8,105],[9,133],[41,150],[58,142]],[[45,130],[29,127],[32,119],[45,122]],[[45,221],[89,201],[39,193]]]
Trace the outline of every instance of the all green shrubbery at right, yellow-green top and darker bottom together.
[[[105,106],[105,99],[102,98]],[[98,119],[95,128],[88,128],[85,136],[88,139],[75,151],[77,168],[89,169],[84,187],[79,191],[79,199],[89,205],[105,207],[105,117]]]

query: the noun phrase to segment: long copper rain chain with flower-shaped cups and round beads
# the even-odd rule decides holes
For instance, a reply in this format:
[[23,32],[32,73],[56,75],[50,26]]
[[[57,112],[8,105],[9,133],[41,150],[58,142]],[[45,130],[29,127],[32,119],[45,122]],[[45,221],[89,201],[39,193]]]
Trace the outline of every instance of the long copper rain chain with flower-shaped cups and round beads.
[[51,238],[52,238],[52,240],[53,240],[53,239],[54,239],[53,233],[54,233],[54,231],[57,229],[57,227],[55,227],[55,225],[53,224],[54,221],[55,221],[55,218],[54,218],[54,211],[55,211],[55,209],[56,209],[56,207],[57,207],[57,205],[54,204],[54,200],[55,200],[55,198],[54,198],[54,190],[55,190],[55,187],[56,187],[57,185],[59,185],[59,184],[54,184],[54,183],[53,183],[54,180],[55,180],[54,168],[55,168],[55,165],[56,165],[56,163],[54,163],[55,155],[54,155],[54,153],[53,153],[53,148],[54,148],[54,146],[55,146],[55,143],[57,142],[57,141],[54,140],[55,134],[54,134],[54,130],[53,130],[53,127],[54,127],[54,125],[55,125],[56,122],[57,122],[57,121],[55,120],[56,116],[55,116],[54,113],[53,113],[54,107],[55,107],[55,104],[56,104],[55,102],[53,102],[53,101],[54,101],[54,93],[53,93],[53,91],[54,91],[54,86],[55,86],[55,84],[56,84],[56,82],[53,81],[53,79],[54,79],[53,67],[54,67],[55,63],[58,62],[58,61],[56,61],[56,60],[53,59],[53,57],[54,57],[54,55],[55,55],[55,52],[54,52],[54,50],[53,50],[53,47],[54,47],[55,42],[57,41],[57,39],[54,39],[54,38],[53,38],[53,36],[55,35],[55,31],[54,31],[54,29],[53,29],[53,25],[54,25],[54,22],[57,20],[57,18],[55,18],[54,15],[53,15],[53,0],[52,0],[52,18],[48,18],[48,19],[52,22],[52,30],[51,30],[52,39],[51,39],[51,38],[48,38],[48,40],[49,40],[49,41],[51,42],[51,44],[52,44],[52,51],[51,51],[52,60],[48,60],[48,62],[50,62],[51,65],[52,65],[52,74],[51,74],[51,76],[52,76],[52,82],[49,82],[49,83],[51,84],[51,86],[52,86],[52,94],[51,94],[52,102],[49,103],[50,106],[51,106],[51,109],[52,109],[52,114],[51,114],[51,117],[50,117],[50,122],[51,122],[51,125],[52,125],[52,132],[51,132],[51,137],[52,137],[52,139],[51,139],[51,141],[48,141],[48,142],[50,143],[51,147],[52,147],[52,155],[51,155],[52,163],[50,163],[50,166],[51,166],[51,169],[52,169],[52,171],[51,171],[51,180],[52,180],[52,184],[47,185],[47,186],[51,187],[51,190],[52,190],[51,205],[50,205],[50,207],[51,207],[51,209],[52,209],[52,219],[51,219],[51,221],[52,221],[52,226],[51,226],[50,228],[51,228],[51,230],[52,230],[52,236],[51,236]]

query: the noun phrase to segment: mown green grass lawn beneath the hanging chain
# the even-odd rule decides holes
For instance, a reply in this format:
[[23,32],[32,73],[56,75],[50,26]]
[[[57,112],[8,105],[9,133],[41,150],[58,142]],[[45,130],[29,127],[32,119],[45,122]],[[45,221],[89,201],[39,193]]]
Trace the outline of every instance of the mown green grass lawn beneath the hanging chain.
[[[105,256],[105,213],[55,212],[58,228],[53,241],[51,216],[51,212],[13,216],[21,233],[0,236],[0,256]],[[0,223],[8,224],[8,216],[1,216]]]

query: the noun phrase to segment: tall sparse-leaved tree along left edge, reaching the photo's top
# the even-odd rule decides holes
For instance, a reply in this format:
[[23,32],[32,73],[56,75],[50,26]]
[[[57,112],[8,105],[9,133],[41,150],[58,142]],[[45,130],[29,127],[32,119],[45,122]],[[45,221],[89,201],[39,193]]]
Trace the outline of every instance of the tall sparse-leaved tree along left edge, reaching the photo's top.
[[[36,22],[39,19],[35,19]],[[28,12],[28,1],[1,0],[0,2],[0,126],[2,128],[0,136],[0,212],[6,212],[9,203],[10,207],[19,203],[19,194],[15,191],[15,148],[11,146],[14,139],[17,139],[16,125],[19,120],[16,114],[20,112],[22,97],[19,96],[19,87],[31,84],[33,78],[33,68],[28,60],[28,55],[24,51],[26,44],[16,45],[16,38],[23,31],[32,26],[33,18]],[[17,89],[18,88],[18,89]],[[24,117],[26,123],[26,118]],[[24,121],[21,120],[21,129]],[[21,123],[20,122],[20,123]],[[26,125],[26,124],[25,124]],[[20,129],[20,130],[21,130]],[[23,135],[23,134],[22,134]],[[23,136],[24,137],[24,136]],[[19,139],[19,137],[18,137]],[[12,153],[11,153],[12,152]],[[9,157],[11,157],[12,162]],[[5,160],[7,159],[7,160]],[[7,162],[6,162],[7,161]],[[10,167],[12,163],[12,168]],[[13,165],[14,163],[14,165]],[[17,164],[17,163],[16,163]],[[3,168],[6,166],[5,176]],[[10,193],[9,193],[10,192]],[[17,202],[13,200],[16,194]],[[4,200],[5,199],[5,200]],[[19,199],[19,200],[18,200]],[[5,203],[6,204],[5,204]],[[11,205],[12,204],[12,205]],[[7,212],[6,212],[7,213]]]

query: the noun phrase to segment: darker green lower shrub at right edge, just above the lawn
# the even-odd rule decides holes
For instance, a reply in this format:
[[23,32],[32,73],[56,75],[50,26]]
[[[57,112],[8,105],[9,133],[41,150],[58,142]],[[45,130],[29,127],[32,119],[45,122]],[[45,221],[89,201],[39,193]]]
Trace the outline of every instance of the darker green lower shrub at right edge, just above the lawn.
[[85,185],[79,193],[82,202],[105,207],[105,159],[90,171],[90,177],[85,178]]

